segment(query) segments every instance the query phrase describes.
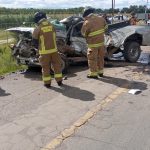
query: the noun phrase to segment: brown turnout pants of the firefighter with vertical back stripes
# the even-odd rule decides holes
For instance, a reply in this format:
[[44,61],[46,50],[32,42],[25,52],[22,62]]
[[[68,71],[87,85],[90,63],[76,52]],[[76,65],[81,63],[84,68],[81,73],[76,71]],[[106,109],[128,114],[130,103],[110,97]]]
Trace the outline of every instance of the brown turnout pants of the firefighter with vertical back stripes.
[[55,80],[57,82],[62,80],[62,59],[57,52],[40,55],[39,61],[42,66],[42,78],[44,84],[51,84],[51,67],[54,69]]

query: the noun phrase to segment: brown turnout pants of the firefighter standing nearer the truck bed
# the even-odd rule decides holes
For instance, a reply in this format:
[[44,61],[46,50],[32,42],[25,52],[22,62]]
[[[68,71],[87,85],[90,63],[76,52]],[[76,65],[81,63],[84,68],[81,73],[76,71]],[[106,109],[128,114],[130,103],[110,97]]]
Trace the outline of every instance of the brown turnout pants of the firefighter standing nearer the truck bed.
[[103,73],[105,55],[104,48],[104,46],[89,48],[87,51],[88,66],[91,76],[96,76],[99,73]]

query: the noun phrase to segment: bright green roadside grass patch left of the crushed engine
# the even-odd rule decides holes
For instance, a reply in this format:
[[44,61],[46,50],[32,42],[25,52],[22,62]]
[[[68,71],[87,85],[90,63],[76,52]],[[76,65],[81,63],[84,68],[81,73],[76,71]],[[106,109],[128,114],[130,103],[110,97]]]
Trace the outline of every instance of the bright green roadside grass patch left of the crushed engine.
[[7,44],[0,45],[0,75],[25,69],[26,66],[18,65],[11,56],[11,49]]

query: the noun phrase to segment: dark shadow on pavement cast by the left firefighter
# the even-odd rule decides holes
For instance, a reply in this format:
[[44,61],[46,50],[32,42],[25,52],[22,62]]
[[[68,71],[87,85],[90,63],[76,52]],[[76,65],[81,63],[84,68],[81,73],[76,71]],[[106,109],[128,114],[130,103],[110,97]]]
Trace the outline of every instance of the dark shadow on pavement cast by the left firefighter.
[[51,87],[52,90],[61,93],[62,95],[82,101],[93,101],[95,95],[89,91],[73,87],[69,85],[63,85],[61,88]]

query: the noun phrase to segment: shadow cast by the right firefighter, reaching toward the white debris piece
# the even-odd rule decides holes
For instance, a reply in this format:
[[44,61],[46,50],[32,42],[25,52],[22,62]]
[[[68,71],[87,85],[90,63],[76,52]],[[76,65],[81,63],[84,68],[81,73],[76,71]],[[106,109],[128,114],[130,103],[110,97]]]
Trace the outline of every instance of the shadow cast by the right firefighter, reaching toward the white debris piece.
[[147,84],[144,82],[129,81],[126,79],[114,78],[114,77],[110,77],[110,76],[104,76],[103,78],[100,78],[99,80],[102,82],[105,82],[105,83],[116,85],[118,87],[121,87],[123,84],[129,83],[130,89],[140,89],[140,90],[147,89]]

